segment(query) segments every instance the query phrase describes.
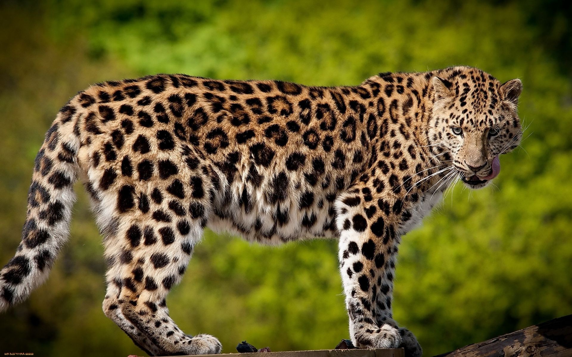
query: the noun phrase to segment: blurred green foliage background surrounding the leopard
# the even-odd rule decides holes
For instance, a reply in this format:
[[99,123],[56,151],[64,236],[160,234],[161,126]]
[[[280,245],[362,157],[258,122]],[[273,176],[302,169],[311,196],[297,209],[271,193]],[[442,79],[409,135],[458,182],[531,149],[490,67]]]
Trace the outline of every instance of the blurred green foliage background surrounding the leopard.
[[[106,79],[154,73],[355,85],[379,71],[471,65],[521,78],[522,149],[495,187],[461,185],[404,237],[394,311],[426,355],[572,312],[572,31],[563,1],[3,1],[0,261],[19,242],[33,158],[58,108]],[[530,136],[529,136],[530,135]],[[0,316],[0,352],[142,353],[101,311],[104,263],[77,186],[48,283]],[[272,350],[347,338],[336,242],[251,245],[206,232],[169,296],[190,333]]]

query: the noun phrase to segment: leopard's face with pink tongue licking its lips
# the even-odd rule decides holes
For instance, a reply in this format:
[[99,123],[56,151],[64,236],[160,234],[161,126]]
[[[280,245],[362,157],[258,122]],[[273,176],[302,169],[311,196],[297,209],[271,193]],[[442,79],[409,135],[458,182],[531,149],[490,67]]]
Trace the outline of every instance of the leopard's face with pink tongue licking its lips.
[[430,145],[447,153],[451,177],[470,188],[482,188],[501,171],[499,156],[517,147],[522,138],[517,114],[522,83],[503,85],[492,77],[467,73],[454,82],[434,77],[435,90]]

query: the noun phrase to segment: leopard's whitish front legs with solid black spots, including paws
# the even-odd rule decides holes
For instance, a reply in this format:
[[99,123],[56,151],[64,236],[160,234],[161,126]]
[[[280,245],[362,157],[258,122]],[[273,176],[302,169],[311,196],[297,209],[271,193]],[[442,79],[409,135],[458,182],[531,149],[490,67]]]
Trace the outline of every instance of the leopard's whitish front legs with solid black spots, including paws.
[[[394,205],[398,204],[399,207]],[[391,300],[403,201],[372,197],[354,188],[336,202],[340,272],[349,315],[349,334],[359,348],[406,349],[421,356],[415,336],[392,319]]]

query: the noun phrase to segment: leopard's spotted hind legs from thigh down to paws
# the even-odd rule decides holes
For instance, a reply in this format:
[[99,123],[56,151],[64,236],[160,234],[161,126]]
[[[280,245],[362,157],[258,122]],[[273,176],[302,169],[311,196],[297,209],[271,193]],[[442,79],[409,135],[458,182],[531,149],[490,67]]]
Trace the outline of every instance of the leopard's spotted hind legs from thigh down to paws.
[[[211,211],[212,187],[201,174],[185,179],[172,170],[160,183],[133,182],[120,187],[118,195],[94,192],[109,266],[104,311],[150,355],[217,354],[222,349],[213,336],[181,331],[165,302]],[[122,194],[128,204],[121,202]]]

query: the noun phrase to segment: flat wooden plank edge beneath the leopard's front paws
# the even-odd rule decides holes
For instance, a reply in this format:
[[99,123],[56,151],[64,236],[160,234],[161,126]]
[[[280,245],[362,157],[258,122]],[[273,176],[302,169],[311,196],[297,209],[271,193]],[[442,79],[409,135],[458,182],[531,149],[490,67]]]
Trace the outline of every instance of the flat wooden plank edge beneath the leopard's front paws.
[[[404,357],[403,348],[380,348],[352,350],[314,350],[314,351],[285,351],[285,352],[255,352],[232,353],[221,355],[199,355],[192,357]],[[171,356],[175,357],[175,356]],[[190,357],[190,356],[177,356]]]

